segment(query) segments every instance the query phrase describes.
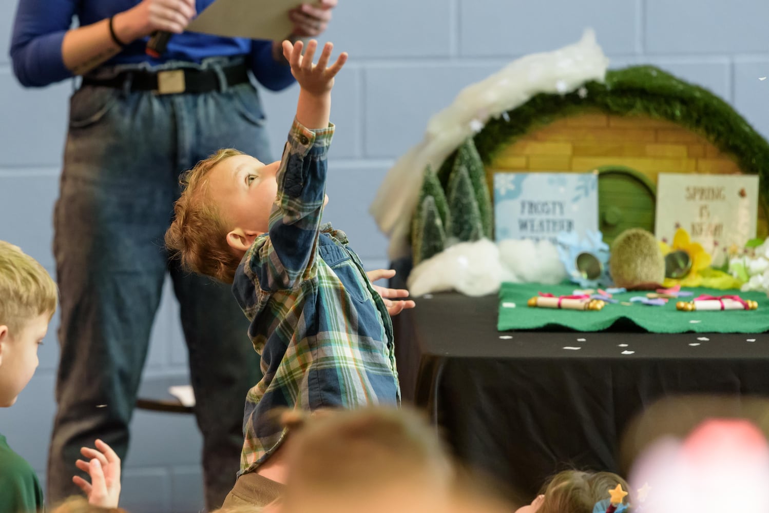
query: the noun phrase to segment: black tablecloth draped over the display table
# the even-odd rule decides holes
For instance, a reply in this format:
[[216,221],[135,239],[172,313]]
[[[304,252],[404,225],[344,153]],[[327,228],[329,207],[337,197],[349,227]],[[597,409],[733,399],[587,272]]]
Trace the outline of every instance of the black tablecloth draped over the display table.
[[[496,296],[458,293],[393,320],[404,399],[428,409],[462,461],[523,495],[564,465],[627,472],[648,442],[634,419],[658,399],[718,394],[713,412],[736,416],[745,396],[769,396],[766,335],[500,333]],[[673,412],[662,422],[701,415]]]

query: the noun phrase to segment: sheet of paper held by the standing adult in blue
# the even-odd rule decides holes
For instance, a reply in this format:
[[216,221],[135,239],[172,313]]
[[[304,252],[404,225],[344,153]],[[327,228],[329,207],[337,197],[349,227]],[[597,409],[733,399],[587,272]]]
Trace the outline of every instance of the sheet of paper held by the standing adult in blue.
[[217,0],[187,26],[188,31],[228,38],[282,40],[294,25],[288,12],[307,0]]

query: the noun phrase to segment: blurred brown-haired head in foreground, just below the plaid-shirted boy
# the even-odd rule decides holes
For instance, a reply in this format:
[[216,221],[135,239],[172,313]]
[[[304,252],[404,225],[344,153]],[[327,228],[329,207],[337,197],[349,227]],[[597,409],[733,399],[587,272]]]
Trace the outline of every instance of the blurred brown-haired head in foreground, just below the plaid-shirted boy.
[[448,510],[454,467],[418,413],[366,408],[287,417],[283,513]]

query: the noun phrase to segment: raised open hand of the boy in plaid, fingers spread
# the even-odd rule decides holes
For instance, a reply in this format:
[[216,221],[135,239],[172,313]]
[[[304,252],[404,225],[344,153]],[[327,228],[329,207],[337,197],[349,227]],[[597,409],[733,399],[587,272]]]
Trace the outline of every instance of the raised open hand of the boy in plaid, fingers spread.
[[296,41],[293,45],[291,41],[283,41],[283,55],[291,65],[291,74],[304,91],[315,95],[328,93],[334,87],[334,77],[347,61],[347,52],[342,52],[336,62],[329,66],[328,61],[334,45],[328,42],[321,51],[318,64],[313,65],[312,58],[318,48],[318,41],[311,39],[308,42],[305,55],[301,55],[302,48],[304,48],[302,41]]

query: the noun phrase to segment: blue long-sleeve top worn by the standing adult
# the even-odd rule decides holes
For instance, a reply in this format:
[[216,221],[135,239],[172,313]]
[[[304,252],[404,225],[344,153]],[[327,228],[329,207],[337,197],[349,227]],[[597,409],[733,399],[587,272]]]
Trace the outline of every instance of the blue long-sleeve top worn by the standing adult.
[[[214,0],[196,0],[197,12],[203,12]],[[62,41],[77,17],[79,25],[91,25],[137,5],[138,0],[19,0],[11,38],[13,71],[25,87],[42,87],[71,78],[64,65]],[[247,55],[256,79],[273,91],[292,84],[291,68],[272,58],[272,41],[245,38],[221,38],[215,35],[184,32],[175,34],[161,58],[145,54],[148,38],[131,42],[104,65],[150,65],[166,61],[199,63],[209,57]]]

